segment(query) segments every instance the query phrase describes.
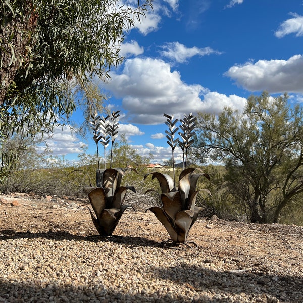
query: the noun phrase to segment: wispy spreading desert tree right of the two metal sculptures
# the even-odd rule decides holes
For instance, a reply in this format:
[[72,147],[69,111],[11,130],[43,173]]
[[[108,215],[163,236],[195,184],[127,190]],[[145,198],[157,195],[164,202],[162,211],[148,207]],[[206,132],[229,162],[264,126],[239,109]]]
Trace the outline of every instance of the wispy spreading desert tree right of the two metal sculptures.
[[251,96],[243,112],[199,114],[196,153],[225,163],[226,184],[250,222],[278,222],[303,192],[303,108],[288,95]]

